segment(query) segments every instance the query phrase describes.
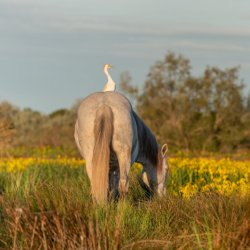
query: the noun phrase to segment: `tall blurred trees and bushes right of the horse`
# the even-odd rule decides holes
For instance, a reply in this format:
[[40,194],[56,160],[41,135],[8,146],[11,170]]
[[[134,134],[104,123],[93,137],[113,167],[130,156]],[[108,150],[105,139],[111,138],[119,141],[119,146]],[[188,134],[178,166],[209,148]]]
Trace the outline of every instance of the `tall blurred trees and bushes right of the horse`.
[[143,89],[123,75],[121,86],[138,113],[172,148],[191,151],[250,149],[250,95],[244,95],[239,67],[206,67],[191,75],[190,61],[168,53],[150,69]]

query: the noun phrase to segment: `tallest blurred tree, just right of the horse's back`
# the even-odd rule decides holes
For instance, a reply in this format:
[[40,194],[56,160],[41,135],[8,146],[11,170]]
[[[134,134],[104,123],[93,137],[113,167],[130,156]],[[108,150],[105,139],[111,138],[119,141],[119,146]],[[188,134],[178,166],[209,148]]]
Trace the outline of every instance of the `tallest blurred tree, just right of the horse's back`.
[[161,142],[167,139],[176,147],[190,146],[185,122],[188,113],[183,112],[186,100],[180,94],[184,81],[190,79],[190,69],[187,59],[169,53],[151,67],[138,97],[137,109],[145,122]]

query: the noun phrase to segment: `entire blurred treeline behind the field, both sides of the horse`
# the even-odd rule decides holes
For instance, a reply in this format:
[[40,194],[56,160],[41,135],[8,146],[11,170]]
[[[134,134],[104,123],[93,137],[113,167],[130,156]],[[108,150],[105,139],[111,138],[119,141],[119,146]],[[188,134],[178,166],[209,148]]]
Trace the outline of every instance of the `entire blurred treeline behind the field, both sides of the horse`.
[[[238,67],[207,67],[195,77],[188,59],[168,53],[150,68],[142,89],[131,85],[128,73],[121,76],[120,87],[158,140],[172,150],[250,149],[250,96],[243,93]],[[0,150],[75,147],[77,106],[44,115],[0,103]]]

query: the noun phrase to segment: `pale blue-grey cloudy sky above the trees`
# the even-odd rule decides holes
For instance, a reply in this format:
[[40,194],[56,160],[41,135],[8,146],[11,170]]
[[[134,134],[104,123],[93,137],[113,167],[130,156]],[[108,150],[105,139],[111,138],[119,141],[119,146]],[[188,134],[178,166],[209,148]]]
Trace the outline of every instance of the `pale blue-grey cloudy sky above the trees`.
[[240,66],[250,92],[250,1],[0,0],[0,102],[50,113],[101,91],[102,68],[143,86],[168,51],[192,73]]

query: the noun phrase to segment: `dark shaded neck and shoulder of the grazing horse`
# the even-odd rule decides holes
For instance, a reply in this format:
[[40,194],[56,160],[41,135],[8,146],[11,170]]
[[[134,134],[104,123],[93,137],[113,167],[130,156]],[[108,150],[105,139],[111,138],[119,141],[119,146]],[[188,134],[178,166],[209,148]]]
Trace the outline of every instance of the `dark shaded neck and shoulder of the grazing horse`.
[[142,119],[132,111],[136,121],[139,138],[139,155],[146,157],[154,166],[158,162],[158,143],[150,129],[145,125]]

